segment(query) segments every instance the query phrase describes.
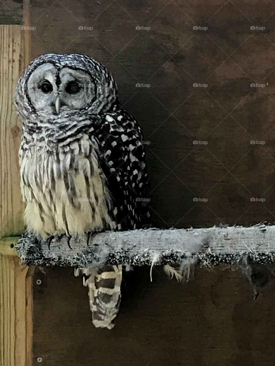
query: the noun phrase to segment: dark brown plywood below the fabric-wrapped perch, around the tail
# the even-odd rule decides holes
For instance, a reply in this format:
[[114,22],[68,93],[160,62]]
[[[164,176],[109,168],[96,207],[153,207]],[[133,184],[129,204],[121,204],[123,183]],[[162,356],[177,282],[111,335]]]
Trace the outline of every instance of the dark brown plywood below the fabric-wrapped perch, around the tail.
[[149,267],[129,276],[108,330],[93,327],[87,288],[71,268],[36,272],[33,365],[37,357],[48,366],[274,365],[274,279],[253,300],[241,271],[222,267],[196,268],[185,284],[161,267],[152,283]]

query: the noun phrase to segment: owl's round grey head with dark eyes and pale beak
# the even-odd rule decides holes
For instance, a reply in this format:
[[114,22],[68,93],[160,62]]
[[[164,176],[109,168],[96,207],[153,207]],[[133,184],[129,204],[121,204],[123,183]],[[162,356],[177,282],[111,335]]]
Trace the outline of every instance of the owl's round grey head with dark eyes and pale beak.
[[115,81],[98,61],[77,53],[49,53],[33,60],[15,91],[22,121],[77,111],[100,113],[118,107]]

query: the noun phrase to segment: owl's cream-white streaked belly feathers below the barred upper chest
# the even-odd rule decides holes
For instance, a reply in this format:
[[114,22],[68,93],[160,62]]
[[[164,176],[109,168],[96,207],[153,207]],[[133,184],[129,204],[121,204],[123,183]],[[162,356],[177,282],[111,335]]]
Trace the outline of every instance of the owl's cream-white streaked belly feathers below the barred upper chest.
[[[70,149],[69,152],[60,154],[59,164],[45,149],[42,151],[29,149],[25,154],[20,154],[22,155],[21,190],[26,201],[25,223],[28,230],[40,234],[44,240],[48,236],[67,231],[72,236],[83,234],[88,230],[102,227],[104,220],[110,225],[110,229],[115,228],[107,209],[106,201],[111,201],[111,198],[104,183],[106,178],[100,172],[95,152],[89,156],[90,161],[85,157],[84,152],[87,153],[88,147],[84,143],[81,144],[81,149]],[[76,150],[79,154],[75,154]],[[78,173],[74,169],[69,169],[72,154],[74,154],[74,167],[78,167]],[[64,174],[67,174],[70,186],[75,187],[74,198],[72,192],[68,193],[66,190]],[[85,175],[89,181],[88,194]],[[27,186],[27,182],[30,187]],[[91,206],[94,207],[94,213]]]

